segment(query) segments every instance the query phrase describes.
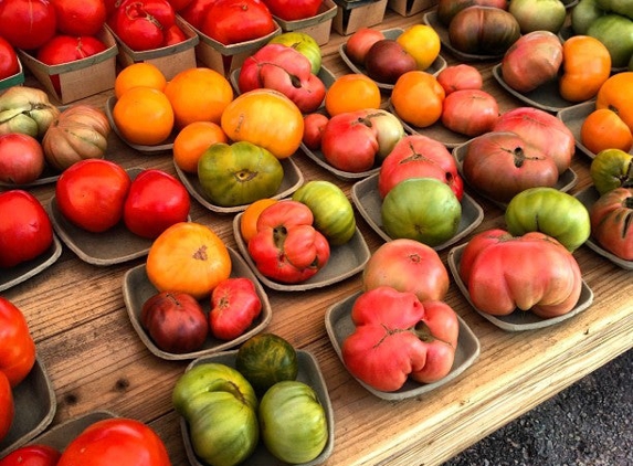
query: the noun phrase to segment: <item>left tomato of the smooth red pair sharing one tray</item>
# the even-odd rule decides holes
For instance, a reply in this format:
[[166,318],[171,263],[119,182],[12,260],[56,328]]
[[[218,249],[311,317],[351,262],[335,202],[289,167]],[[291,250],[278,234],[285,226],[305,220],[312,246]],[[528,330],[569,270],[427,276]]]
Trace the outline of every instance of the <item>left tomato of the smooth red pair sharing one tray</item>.
[[60,176],[55,186],[57,208],[76,226],[105,232],[122,220],[130,184],[120,166],[104,159],[82,160]]

